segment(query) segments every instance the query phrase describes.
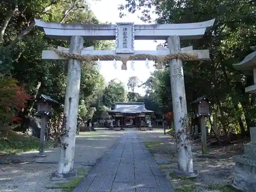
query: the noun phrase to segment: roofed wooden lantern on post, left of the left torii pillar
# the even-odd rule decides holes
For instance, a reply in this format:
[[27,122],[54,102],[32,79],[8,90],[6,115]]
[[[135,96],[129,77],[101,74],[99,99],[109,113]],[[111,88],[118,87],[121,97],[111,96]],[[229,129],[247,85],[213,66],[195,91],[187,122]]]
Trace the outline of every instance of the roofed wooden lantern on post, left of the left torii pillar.
[[46,126],[47,117],[53,116],[52,104],[58,103],[57,101],[51,99],[51,97],[46,95],[39,95],[35,99],[37,105],[37,112],[35,116],[41,117],[41,130],[40,130],[40,142],[39,142],[39,154],[38,157],[45,157],[45,139],[46,139]]

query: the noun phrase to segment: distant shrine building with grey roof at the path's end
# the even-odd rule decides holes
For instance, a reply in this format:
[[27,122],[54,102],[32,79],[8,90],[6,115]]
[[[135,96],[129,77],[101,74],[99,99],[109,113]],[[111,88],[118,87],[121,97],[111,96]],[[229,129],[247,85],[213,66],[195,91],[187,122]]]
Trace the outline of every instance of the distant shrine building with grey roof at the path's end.
[[115,120],[114,126],[120,120],[122,127],[143,127],[146,115],[151,115],[154,111],[146,110],[143,102],[116,102],[115,108],[108,113]]

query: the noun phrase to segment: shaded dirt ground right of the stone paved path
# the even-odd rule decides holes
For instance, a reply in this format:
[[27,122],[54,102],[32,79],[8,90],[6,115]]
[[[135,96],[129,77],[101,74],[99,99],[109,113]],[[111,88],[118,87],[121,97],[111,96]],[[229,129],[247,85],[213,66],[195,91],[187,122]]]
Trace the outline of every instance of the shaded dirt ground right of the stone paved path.
[[[199,176],[194,179],[177,178],[173,169],[177,169],[177,156],[175,139],[162,130],[137,132],[146,147],[153,154],[164,175],[179,192],[196,191],[236,191],[227,187],[232,182],[232,157],[243,152],[242,143],[226,146],[208,146],[209,156],[202,157],[201,142],[192,144],[194,169]],[[162,162],[159,162],[162,161]]]

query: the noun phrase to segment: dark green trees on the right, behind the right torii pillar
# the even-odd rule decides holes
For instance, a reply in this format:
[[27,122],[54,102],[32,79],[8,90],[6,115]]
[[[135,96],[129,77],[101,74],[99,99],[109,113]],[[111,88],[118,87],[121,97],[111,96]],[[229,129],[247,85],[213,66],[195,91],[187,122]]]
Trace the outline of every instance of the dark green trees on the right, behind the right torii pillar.
[[[158,15],[156,23],[196,23],[215,18],[214,26],[203,38],[182,40],[181,47],[209,49],[210,60],[184,62],[184,78],[187,106],[198,97],[206,95],[211,101],[212,114],[217,114],[217,127],[245,133],[255,120],[254,96],[245,94],[244,88],[253,84],[252,73],[234,70],[232,65],[251,53],[256,44],[254,1],[202,1],[202,0],[126,0],[119,7],[134,13],[142,12],[141,19],[153,22],[150,14]],[[121,13],[121,15],[122,15]],[[164,44],[166,46],[166,44]],[[167,64],[167,63],[166,63]],[[156,101],[163,112],[172,109],[168,66],[163,72],[155,72],[145,83],[147,97]],[[163,76],[157,76],[160,73]]]

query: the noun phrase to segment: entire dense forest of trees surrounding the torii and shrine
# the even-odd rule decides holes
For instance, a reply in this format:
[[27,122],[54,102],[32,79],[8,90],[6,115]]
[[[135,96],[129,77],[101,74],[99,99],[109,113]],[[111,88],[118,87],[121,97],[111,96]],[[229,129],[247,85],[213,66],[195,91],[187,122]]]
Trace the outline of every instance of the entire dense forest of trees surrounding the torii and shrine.
[[[152,20],[152,7],[158,15]],[[216,18],[215,25],[202,39],[182,41],[182,47],[209,49],[210,60],[184,62],[187,103],[207,96],[211,101],[210,126],[217,134],[221,131],[248,134],[254,126],[256,105],[254,96],[245,93],[253,84],[252,71],[236,71],[238,63],[252,52],[256,45],[256,4],[238,0],[126,0],[120,5],[120,16],[125,10],[141,11],[141,19],[149,23],[195,23]],[[63,111],[67,81],[67,62],[41,59],[42,50],[49,47],[69,47],[69,41],[53,40],[35,27],[33,18],[46,22],[101,24],[82,0],[14,0],[0,5],[0,122],[17,124],[26,131],[35,106],[28,98],[45,94],[60,104],[54,105],[57,125]],[[114,49],[112,41],[89,41],[85,47]],[[166,45],[162,45],[166,46]],[[156,70],[146,82],[131,77],[127,83],[113,79],[105,83],[97,67],[87,68],[81,74],[79,115],[83,120],[100,118],[113,102],[141,101],[155,116],[172,111],[168,66]],[[145,96],[134,92],[135,87],[146,89]],[[188,104],[188,110],[191,111]]]

